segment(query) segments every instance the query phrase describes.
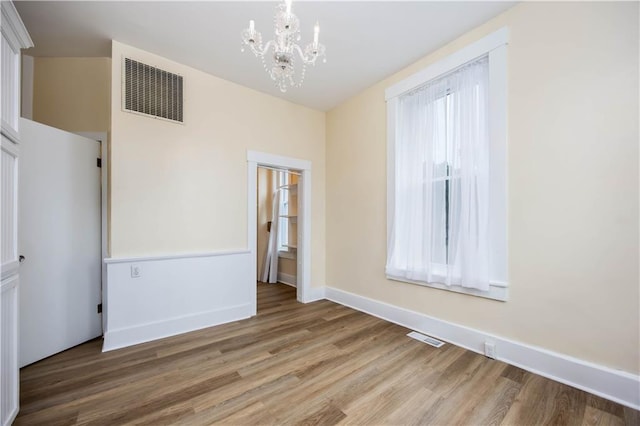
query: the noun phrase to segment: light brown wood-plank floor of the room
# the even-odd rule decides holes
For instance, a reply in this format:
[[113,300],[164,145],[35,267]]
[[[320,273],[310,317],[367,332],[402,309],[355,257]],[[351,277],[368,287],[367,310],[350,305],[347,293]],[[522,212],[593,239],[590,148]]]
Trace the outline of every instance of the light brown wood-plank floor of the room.
[[21,370],[16,425],[638,425],[637,411],[295,289],[254,318]]

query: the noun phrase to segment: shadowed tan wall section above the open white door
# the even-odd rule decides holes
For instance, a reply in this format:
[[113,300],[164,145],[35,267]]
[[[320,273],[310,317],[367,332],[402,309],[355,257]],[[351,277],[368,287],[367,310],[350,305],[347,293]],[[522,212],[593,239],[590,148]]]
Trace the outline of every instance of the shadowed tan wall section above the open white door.
[[108,132],[111,58],[34,58],[33,120],[68,132]]

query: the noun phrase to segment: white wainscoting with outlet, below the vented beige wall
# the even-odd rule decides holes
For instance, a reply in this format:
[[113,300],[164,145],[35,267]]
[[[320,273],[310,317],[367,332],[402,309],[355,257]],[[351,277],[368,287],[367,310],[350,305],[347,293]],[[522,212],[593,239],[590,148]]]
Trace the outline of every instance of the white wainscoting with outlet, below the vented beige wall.
[[105,263],[103,351],[253,315],[255,281],[248,250],[109,258]]

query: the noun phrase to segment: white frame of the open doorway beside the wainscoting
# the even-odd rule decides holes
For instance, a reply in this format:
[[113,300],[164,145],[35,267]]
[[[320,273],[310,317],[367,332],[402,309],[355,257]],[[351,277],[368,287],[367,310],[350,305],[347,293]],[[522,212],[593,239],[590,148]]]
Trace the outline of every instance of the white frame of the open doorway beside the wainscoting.
[[300,172],[298,181],[298,252],[296,256],[296,298],[299,302],[308,303],[311,298],[311,161],[298,158],[283,157],[258,151],[247,151],[247,246],[251,253],[251,277],[249,286],[253,315],[257,305],[257,220],[258,220],[258,167],[265,166],[277,169]]

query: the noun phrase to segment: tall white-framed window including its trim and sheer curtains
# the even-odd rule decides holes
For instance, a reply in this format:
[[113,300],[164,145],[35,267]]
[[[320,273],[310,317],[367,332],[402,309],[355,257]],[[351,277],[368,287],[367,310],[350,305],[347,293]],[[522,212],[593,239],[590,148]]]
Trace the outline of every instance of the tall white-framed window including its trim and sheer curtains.
[[387,89],[387,277],[506,300],[506,29]]

